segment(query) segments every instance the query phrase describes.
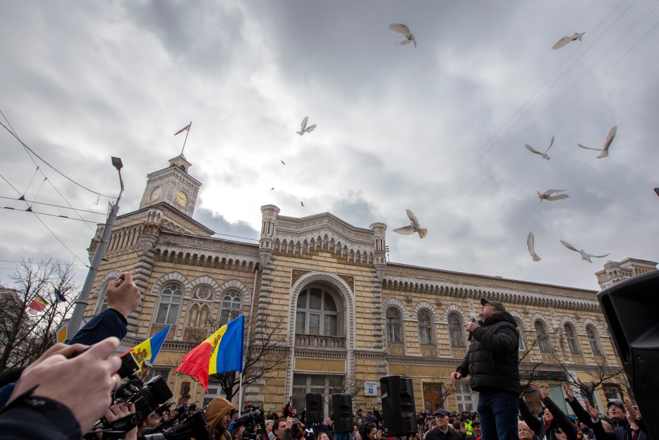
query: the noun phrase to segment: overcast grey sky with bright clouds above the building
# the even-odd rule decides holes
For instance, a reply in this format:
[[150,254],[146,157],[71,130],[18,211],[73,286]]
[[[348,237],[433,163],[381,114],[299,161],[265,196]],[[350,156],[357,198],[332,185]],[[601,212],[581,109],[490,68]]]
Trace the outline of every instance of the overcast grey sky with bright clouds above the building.
[[[387,223],[390,261],[598,289],[607,259],[659,259],[658,4],[3,2],[0,110],[93,191],[117,194],[110,157],[121,157],[122,213],[180,153],[185,133],[173,134],[192,121],[194,218],[218,233],[256,243],[267,203],[291,217],[328,211],[362,228]],[[409,26],[418,47],[394,45],[403,36],[390,23]],[[583,42],[551,49],[573,32]],[[300,137],[305,115],[318,126]],[[601,147],[613,125],[610,157],[577,148]],[[549,161],[524,148],[544,151],[552,135]],[[104,213],[107,197],[36,159],[44,181],[2,127],[0,148],[0,206],[16,208],[0,210],[0,282],[33,257],[73,261],[82,284],[78,258],[87,263],[96,226],[41,215],[62,244],[15,199]],[[539,201],[548,188],[570,198]],[[405,208],[425,239],[392,232]],[[559,239],[610,256],[590,264]]]

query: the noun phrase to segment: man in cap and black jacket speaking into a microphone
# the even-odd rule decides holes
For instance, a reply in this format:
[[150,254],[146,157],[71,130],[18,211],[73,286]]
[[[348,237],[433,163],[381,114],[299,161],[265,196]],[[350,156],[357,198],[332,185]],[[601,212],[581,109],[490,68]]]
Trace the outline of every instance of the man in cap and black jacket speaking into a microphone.
[[478,392],[478,417],[483,440],[519,439],[517,405],[520,385],[519,335],[515,319],[499,301],[480,300],[478,324],[473,320],[469,331],[469,351],[451,381],[471,375],[469,386]]

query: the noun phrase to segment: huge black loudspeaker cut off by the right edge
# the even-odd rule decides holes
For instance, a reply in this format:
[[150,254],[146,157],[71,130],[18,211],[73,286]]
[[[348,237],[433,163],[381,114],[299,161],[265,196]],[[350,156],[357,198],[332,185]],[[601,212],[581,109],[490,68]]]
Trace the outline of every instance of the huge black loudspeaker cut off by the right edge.
[[627,278],[597,294],[650,439],[659,439],[659,271]]

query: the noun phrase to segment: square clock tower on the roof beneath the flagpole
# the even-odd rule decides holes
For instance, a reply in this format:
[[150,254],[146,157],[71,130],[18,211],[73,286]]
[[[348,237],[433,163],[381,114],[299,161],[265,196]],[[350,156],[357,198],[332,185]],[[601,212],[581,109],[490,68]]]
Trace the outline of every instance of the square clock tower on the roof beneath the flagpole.
[[139,208],[165,202],[192,217],[201,182],[188,174],[192,166],[183,154],[169,159],[169,166],[146,176],[146,189]]

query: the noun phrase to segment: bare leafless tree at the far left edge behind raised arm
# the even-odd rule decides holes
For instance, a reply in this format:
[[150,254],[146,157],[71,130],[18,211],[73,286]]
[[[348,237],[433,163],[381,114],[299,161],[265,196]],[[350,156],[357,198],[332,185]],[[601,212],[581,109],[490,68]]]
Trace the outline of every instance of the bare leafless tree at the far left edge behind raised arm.
[[[30,364],[56,342],[56,330],[80,294],[73,275],[70,263],[21,259],[10,283],[0,285],[0,371]],[[67,302],[56,301],[55,289]],[[37,296],[47,305],[31,314],[29,305]]]

